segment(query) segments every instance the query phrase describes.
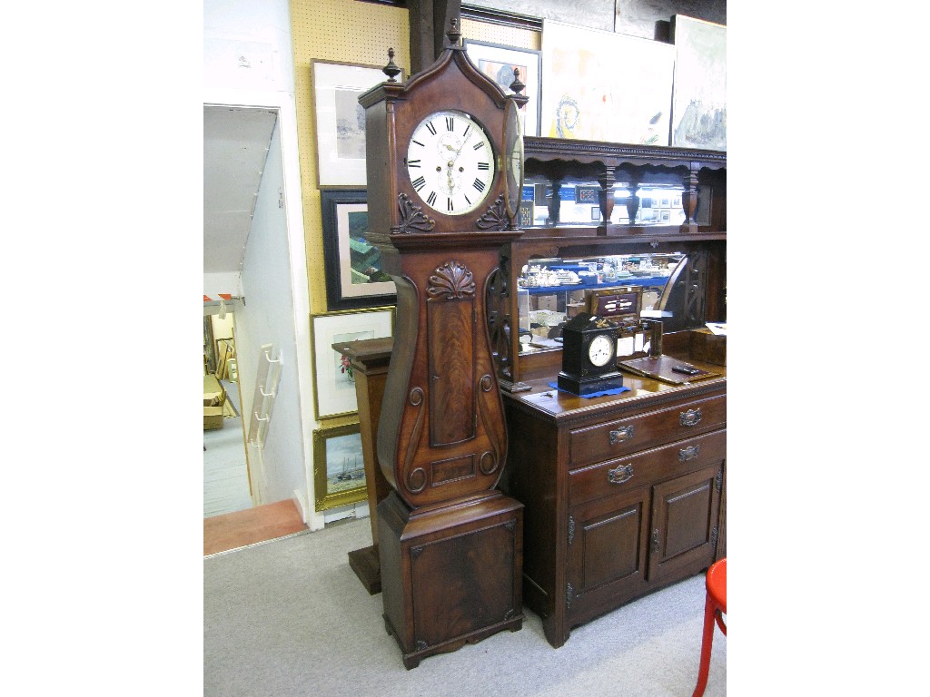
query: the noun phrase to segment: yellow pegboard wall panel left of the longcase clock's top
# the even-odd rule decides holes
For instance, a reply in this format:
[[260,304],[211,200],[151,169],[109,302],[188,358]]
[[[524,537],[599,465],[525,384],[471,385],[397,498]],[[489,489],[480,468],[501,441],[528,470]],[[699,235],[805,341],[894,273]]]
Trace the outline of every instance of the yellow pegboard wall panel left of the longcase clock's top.
[[312,61],[383,66],[388,48],[410,74],[407,10],[355,0],[291,0],[294,83],[297,106],[300,185],[312,312],[326,311],[323,217],[317,188],[316,133],[313,129]]

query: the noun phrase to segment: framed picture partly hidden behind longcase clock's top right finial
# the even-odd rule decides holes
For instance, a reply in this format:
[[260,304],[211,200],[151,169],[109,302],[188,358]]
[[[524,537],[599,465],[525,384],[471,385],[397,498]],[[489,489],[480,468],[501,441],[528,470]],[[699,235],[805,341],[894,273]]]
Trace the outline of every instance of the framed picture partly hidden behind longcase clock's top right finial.
[[542,52],[532,48],[515,48],[484,41],[466,41],[465,52],[507,94],[513,82],[513,69],[520,69],[520,82],[526,85],[523,94],[529,98],[524,107],[524,134],[539,135],[539,109],[542,105]]

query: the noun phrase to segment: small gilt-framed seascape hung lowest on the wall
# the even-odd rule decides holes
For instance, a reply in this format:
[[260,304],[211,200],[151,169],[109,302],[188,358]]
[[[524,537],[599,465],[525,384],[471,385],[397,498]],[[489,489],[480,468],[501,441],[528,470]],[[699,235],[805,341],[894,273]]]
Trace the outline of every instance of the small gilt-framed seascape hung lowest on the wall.
[[365,500],[365,458],[358,423],[313,431],[313,494],[317,512]]

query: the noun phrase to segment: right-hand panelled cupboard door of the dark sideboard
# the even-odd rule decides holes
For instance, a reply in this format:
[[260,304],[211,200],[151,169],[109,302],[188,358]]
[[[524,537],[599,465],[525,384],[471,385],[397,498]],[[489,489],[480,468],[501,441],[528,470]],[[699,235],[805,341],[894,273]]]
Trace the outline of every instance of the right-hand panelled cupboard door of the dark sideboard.
[[698,572],[712,563],[723,467],[720,462],[653,487],[650,582]]

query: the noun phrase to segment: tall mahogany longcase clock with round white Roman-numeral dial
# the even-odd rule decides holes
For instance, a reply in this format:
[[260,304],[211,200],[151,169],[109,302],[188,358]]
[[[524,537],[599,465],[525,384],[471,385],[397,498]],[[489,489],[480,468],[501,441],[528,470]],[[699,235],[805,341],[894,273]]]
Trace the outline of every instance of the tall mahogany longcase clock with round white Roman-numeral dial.
[[495,488],[507,430],[485,296],[521,234],[526,98],[479,72],[452,24],[432,66],[402,85],[391,61],[392,80],[359,98],[370,237],[397,285],[378,534],[384,619],[408,668],[523,623],[523,506]]

